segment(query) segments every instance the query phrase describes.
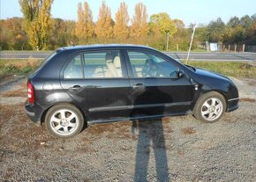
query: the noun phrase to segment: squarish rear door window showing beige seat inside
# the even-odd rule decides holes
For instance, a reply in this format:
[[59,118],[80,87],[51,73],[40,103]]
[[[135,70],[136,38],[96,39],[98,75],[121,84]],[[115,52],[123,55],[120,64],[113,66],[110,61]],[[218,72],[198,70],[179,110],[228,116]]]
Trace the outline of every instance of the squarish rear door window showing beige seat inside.
[[104,51],[84,54],[86,78],[123,77],[119,51]]

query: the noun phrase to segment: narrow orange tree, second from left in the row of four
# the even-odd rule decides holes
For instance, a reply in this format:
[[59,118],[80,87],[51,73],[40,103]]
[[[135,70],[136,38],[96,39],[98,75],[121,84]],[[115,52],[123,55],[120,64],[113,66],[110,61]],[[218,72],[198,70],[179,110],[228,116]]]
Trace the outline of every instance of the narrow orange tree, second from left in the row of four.
[[102,5],[100,7],[95,33],[98,38],[113,37],[113,20],[111,18],[110,8],[107,6],[105,1],[102,1]]

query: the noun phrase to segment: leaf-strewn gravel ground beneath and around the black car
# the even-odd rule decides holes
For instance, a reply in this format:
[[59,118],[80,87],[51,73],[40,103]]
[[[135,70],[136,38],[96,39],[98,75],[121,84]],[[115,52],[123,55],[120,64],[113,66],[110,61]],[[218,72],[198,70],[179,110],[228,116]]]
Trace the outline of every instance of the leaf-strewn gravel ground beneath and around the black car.
[[55,139],[26,117],[26,80],[1,88],[0,181],[256,181],[256,80],[237,111],[88,127]]

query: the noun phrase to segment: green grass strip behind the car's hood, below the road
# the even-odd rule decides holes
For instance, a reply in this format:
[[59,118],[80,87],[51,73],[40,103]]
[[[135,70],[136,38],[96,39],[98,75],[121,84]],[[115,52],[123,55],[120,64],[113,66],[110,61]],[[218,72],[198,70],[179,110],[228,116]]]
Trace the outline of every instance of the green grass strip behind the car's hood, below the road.
[[189,61],[188,65],[212,70],[225,76],[256,77],[256,67],[245,62]]

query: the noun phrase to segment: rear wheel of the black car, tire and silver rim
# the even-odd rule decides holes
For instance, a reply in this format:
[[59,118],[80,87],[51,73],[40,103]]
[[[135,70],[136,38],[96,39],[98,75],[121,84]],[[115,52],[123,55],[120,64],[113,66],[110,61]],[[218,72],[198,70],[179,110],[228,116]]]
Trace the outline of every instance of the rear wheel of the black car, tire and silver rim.
[[52,106],[46,113],[45,125],[50,135],[69,138],[81,132],[84,117],[76,106],[59,104]]

